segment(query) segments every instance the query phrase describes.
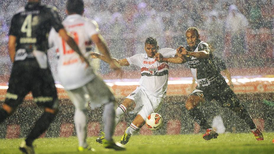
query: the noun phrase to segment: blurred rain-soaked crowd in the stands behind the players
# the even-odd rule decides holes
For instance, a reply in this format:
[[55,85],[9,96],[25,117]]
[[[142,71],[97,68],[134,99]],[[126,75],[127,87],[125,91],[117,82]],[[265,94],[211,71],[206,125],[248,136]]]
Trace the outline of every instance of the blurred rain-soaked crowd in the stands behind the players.
[[[0,1],[0,75],[9,74],[7,51],[12,15],[27,0]],[[84,16],[98,22],[100,32],[115,58],[144,53],[147,37],[159,47],[186,46],[185,31],[197,27],[201,40],[214,48],[214,55],[228,67],[273,66],[272,0],[84,0]],[[42,0],[56,6],[66,17],[66,0]],[[100,64],[106,73],[107,64]],[[174,66],[176,67],[176,66]],[[180,66],[181,67],[181,66]],[[182,66],[187,68],[186,65]]]

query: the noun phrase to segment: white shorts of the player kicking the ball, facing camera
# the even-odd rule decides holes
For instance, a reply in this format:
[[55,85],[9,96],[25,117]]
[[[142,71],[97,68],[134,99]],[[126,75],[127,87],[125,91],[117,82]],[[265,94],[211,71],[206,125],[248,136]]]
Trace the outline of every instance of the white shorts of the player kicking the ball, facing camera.
[[149,95],[146,93],[146,90],[142,89],[140,86],[126,98],[133,100],[136,104],[134,110],[129,113],[134,114],[138,112],[144,120],[146,120],[149,114],[158,112],[164,102],[164,97]]

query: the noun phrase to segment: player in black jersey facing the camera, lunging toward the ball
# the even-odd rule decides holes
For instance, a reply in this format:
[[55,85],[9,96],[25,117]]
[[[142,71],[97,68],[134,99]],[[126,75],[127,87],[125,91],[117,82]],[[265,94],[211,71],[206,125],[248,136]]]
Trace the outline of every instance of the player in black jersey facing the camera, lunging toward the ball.
[[190,66],[193,78],[197,81],[198,86],[188,96],[185,107],[190,116],[200,124],[200,127],[206,129],[203,138],[205,140],[217,138],[218,133],[208,124],[205,116],[197,106],[205,101],[215,99],[222,107],[230,108],[236,112],[239,117],[244,119],[257,140],[263,140],[262,133],[257,129],[249,113],[240,104],[239,99],[227,85],[220,70],[216,67],[218,63],[213,60],[210,47],[207,43],[199,39],[198,29],[195,27],[188,28],[185,36],[188,46],[186,48],[182,46],[177,48],[178,57],[162,58],[158,53],[155,55],[155,59],[171,63],[187,62]]

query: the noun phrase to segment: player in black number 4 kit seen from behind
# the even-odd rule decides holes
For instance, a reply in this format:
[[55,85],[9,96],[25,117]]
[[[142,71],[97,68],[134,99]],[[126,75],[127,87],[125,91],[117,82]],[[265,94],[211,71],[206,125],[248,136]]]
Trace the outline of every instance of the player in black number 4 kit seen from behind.
[[27,5],[13,16],[8,46],[14,64],[6,99],[0,109],[0,122],[15,111],[30,91],[34,102],[45,108],[45,112],[20,145],[19,149],[24,153],[34,153],[32,142],[47,130],[59,106],[46,55],[47,37],[51,27],[54,27],[63,40],[80,55],[81,60],[87,63],[73,38],[67,35],[56,8],[42,5],[40,0],[29,0]]

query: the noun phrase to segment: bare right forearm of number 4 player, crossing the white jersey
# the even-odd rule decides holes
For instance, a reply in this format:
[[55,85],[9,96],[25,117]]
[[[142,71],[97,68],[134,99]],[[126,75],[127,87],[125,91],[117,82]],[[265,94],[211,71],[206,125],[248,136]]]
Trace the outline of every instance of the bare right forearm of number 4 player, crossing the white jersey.
[[61,28],[58,31],[58,33],[62,37],[62,39],[65,40],[68,43],[68,45],[71,47],[71,49],[73,49],[76,53],[78,53],[80,55],[81,60],[85,61],[89,65],[89,61],[81,53],[78,45],[76,44],[74,39],[67,34],[66,30],[64,28]]

